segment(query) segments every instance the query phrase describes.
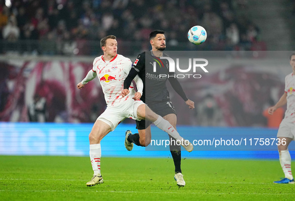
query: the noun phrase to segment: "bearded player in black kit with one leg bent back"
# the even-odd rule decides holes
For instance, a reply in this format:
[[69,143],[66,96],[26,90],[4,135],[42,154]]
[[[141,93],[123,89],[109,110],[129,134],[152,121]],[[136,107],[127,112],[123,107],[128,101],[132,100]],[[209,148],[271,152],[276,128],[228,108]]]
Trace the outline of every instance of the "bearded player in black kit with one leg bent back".
[[[169,98],[169,92],[166,87],[166,81],[169,80],[172,88],[181,96],[189,108],[195,108],[194,102],[189,100],[180,83],[175,78],[174,73],[169,73],[169,63],[165,59],[160,59],[166,48],[164,31],[154,30],[149,35],[152,50],[138,55],[133,63],[128,77],[124,81],[124,90],[122,96],[126,96],[133,78],[138,74],[143,81],[143,94],[141,101],[145,102],[153,111],[168,120],[176,128],[176,111]],[[156,62],[156,72],[154,72],[154,62]],[[169,76],[168,76],[169,75]],[[173,77],[174,76],[174,77]],[[151,141],[151,122],[147,120],[136,121],[138,133],[132,134],[130,130],[126,131],[125,147],[128,151],[133,148],[133,143],[138,146],[148,146]],[[171,136],[169,136],[171,138]],[[171,141],[171,139],[170,139]],[[175,180],[177,185],[185,186],[185,181],[181,172],[181,147],[180,145],[171,145],[170,152],[175,165]]]

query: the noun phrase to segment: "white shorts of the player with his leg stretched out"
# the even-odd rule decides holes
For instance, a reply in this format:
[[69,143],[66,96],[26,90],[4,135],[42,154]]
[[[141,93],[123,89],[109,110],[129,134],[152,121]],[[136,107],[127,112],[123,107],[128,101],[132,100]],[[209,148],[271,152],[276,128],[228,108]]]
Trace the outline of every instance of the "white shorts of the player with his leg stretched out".
[[125,118],[141,120],[137,117],[137,108],[141,104],[144,104],[144,102],[140,100],[134,101],[130,97],[122,104],[118,104],[116,106],[107,106],[104,112],[100,114],[97,119],[107,123],[113,131]]

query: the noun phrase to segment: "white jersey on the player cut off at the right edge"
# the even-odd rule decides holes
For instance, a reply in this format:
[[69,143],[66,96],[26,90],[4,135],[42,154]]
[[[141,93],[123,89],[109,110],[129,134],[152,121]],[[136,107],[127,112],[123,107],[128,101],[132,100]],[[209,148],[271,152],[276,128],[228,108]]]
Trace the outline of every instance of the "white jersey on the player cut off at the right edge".
[[285,93],[287,93],[285,119],[295,123],[295,75],[293,73],[290,73],[285,78]]

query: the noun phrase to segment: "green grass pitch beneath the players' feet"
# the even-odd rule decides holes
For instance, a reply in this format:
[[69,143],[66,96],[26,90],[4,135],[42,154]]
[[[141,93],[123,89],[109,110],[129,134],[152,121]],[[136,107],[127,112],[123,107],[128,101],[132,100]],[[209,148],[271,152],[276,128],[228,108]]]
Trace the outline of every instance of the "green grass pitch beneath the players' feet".
[[182,160],[186,186],[174,181],[171,158],[101,158],[104,183],[88,157],[0,156],[0,201],[293,200],[295,185],[274,184],[279,161]]

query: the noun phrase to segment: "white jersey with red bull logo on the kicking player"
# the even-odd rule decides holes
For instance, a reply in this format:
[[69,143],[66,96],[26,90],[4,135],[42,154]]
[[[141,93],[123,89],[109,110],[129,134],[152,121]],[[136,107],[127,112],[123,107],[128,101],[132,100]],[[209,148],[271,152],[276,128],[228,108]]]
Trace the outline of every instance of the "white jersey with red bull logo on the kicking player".
[[117,54],[111,61],[104,61],[103,55],[94,59],[92,70],[97,74],[107,106],[114,106],[127,99],[132,99],[132,95],[135,94],[133,84],[129,88],[130,94],[126,97],[121,96],[124,80],[131,66],[130,59],[120,54]]

